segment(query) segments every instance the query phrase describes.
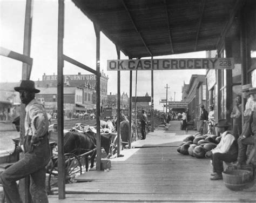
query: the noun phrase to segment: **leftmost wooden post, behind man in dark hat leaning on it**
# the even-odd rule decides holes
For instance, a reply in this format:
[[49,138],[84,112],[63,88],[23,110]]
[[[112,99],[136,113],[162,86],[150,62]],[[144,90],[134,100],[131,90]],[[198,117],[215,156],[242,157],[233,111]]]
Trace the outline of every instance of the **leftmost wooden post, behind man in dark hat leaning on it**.
[[[32,30],[32,6],[33,0],[26,0],[26,10],[25,10],[25,25],[24,25],[24,44],[23,44],[23,55],[30,56],[31,49],[31,30]],[[30,79],[31,65],[23,63],[22,64],[22,80]],[[20,140],[23,143],[25,137],[25,105],[21,105],[21,120],[20,120]],[[21,158],[24,154],[21,153]],[[30,178],[26,177],[19,180],[19,194],[21,194],[21,199],[23,202],[32,202],[31,195],[29,192]]]

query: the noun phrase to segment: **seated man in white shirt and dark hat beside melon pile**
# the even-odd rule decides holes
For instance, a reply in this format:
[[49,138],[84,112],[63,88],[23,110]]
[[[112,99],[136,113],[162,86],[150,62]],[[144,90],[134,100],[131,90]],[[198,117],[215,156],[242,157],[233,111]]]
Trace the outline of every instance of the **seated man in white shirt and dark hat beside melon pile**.
[[205,156],[212,159],[213,173],[211,180],[223,179],[223,161],[233,162],[237,160],[238,146],[233,134],[227,131],[229,123],[225,119],[218,120],[217,127],[220,133],[220,143],[213,150],[206,152]]

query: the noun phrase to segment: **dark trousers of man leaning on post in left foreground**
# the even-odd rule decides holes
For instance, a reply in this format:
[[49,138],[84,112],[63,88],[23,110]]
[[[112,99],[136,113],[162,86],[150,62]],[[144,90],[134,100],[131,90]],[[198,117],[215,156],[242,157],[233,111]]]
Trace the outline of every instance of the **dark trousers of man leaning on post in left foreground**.
[[[27,147],[24,146],[24,148],[30,148],[30,151],[25,152],[23,159],[7,168],[1,174],[4,194],[8,203],[22,203],[16,181],[28,175],[30,175],[30,193],[33,203],[48,203],[45,190],[45,166],[50,161],[49,140],[45,136],[40,146],[32,146],[29,140],[29,136],[26,136],[25,141],[28,141],[28,145]],[[29,145],[30,147],[28,147]]]

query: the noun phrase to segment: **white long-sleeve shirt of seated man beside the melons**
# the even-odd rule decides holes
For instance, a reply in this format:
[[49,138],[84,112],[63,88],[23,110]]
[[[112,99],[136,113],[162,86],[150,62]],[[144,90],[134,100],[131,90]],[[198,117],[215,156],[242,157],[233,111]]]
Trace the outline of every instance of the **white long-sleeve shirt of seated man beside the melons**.
[[234,136],[230,132],[225,131],[221,134],[220,143],[212,150],[212,153],[227,153],[234,141]]

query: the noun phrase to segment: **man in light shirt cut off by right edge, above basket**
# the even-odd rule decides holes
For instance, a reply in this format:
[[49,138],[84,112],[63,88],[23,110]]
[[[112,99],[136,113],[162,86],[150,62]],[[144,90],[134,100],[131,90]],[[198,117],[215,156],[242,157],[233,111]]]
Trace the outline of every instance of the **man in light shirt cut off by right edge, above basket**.
[[249,115],[245,116],[245,124],[244,128],[242,129],[242,133],[238,138],[238,158],[237,163],[234,165],[240,167],[242,164],[249,164],[246,163],[246,150],[247,145],[254,145],[254,139],[256,134],[256,87],[250,87],[248,89],[248,94],[252,99],[250,106],[251,112]]

